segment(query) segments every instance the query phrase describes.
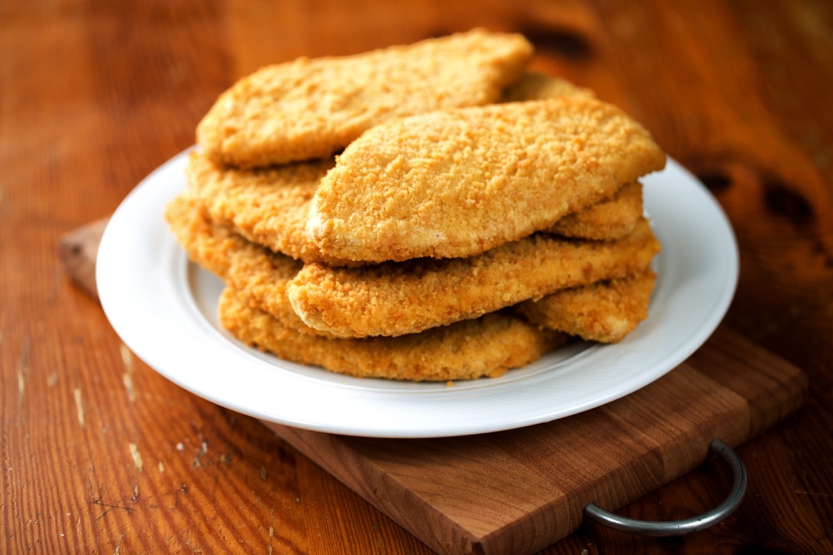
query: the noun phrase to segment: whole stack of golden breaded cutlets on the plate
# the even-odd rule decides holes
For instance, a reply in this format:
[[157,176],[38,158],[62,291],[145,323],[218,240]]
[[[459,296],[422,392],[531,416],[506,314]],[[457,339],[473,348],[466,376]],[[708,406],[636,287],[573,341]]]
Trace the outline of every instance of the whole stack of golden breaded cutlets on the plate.
[[665,155],[621,110],[474,30],[264,67],[197,127],[166,216],[222,325],[342,374],[498,376],[647,316]]

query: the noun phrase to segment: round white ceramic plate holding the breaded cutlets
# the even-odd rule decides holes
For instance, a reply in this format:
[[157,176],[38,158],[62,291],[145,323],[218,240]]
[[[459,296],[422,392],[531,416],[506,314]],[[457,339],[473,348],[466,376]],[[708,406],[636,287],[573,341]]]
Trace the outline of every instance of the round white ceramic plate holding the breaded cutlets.
[[735,292],[735,237],[720,206],[676,162],[647,176],[662,252],[648,320],[619,344],[576,344],[501,378],[446,384],[354,379],[292,364],[217,324],[220,282],[188,262],[162,212],[186,186],[187,153],[142,181],[113,214],[97,258],[107,318],[172,382],[243,414],[373,437],[480,434],[592,409],[651,383],[706,341]]

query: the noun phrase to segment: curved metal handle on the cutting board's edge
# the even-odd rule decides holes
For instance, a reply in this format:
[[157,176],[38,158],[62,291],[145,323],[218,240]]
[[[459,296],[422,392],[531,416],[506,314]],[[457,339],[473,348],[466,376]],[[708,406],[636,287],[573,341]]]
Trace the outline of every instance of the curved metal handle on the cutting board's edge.
[[606,511],[595,503],[590,503],[584,508],[586,517],[592,518],[597,523],[621,532],[655,537],[682,536],[683,534],[705,530],[710,526],[714,526],[716,523],[728,517],[741,504],[743,496],[746,494],[746,468],[744,468],[743,463],[741,463],[741,458],[737,456],[737,453],[723,443],[721,439],[712,439],[709,450],[712,453],[716,453],[718,457],[729,464],[735,478],[735,485],[732,487],[729,497],[716,508],[711,509],[711,511],[683,520],[652,522],[637,520],[636,518],[620,517]]

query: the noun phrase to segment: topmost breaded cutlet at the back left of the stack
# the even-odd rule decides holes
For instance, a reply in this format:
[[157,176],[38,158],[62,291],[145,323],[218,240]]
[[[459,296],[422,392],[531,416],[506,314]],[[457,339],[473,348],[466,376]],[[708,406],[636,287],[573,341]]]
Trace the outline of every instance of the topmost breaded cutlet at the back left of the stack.
[[496,102],[531,55],[521,35],[476,29],[263,67],[217,98],[197,142],[233,166],[326,158],[394,116]]

